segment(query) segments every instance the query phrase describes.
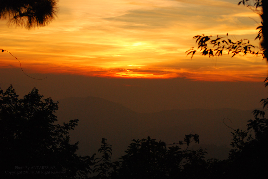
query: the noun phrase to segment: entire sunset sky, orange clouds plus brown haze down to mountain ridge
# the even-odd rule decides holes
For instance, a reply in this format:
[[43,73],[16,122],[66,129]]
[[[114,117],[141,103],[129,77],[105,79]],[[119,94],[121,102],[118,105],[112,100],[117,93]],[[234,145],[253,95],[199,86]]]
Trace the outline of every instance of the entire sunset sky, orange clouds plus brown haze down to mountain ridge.
[[267,98],[262,57],[186,56],[195,35],[247,38],[260,18],[238,0],[59,0],[54,21],[27,30],[0,21],[0,85],[57,101],[89,95],[137,112],[254,109]]

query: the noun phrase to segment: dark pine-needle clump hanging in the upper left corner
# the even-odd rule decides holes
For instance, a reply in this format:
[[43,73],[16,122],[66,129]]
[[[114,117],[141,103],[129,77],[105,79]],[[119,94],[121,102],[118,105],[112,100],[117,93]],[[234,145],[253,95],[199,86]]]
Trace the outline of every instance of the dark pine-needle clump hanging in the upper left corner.
[[45,26],[56,16],[57,0],[0,0],[0,18],[9,18],[10,25]]

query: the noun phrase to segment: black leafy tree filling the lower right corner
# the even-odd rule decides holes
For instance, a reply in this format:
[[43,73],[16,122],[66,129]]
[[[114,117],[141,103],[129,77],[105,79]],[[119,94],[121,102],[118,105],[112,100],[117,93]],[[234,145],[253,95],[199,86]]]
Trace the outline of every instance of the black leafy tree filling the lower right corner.
[[[230,145],[233,149],[225,160],[225,178],[260,178],[267,175],[268,119],[264,111],[254,110],[253,113],[255,119],[248,121],[247,131],[233,129],[231,132],[233,142]],[[255,132],[254,137],[250,134],[252,131]]]

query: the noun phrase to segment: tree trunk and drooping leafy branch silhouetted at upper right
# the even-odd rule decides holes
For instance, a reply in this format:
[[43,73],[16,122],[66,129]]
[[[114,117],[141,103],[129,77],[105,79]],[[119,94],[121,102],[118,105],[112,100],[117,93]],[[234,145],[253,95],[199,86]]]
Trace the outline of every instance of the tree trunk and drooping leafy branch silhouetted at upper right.
[[[252,4],[253,3],[253,4]],[[267,28],[267,17],[268,17],[268,2],[266,0],[243,0],[238,3],[238,5],[244,4],[249,7],[254,12],[258,13],[261,17],[261,25],[256,29],[259,30],[256,39],[261,40],[261,49],[256,48],[250,44],[247,39],[242,39],[238,41],[232,41],[228,38],[228,33],[226,37],[218,36],[212,38],[212,36],[207,35],[197,35],[193,38],[196,39],[198,45],[197,49],[192,47],[187,55],[191,55],[191,58],[197,51],[201,52],[201,55],[220,56],[224,52],[232,54],[232,57],[236,54],[247,55],[253,54],[258,56],[261,54],[263,58],[267,59],[267,39],[268,39],[268,28]],[[268,59],[267,59],[268,60]]]

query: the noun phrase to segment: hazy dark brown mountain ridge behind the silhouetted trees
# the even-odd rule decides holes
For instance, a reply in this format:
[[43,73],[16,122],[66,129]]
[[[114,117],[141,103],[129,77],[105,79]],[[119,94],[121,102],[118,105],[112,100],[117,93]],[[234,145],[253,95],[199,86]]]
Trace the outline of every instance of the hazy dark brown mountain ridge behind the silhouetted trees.
[[[132,139],[150,136],[167,144],[179,142],[192,131],[200,136],[200,146],[226,145],[231,142],[230,127],[246,129],[247,120],[253,118],[253,110],[237,109],[188,109],[165,110],[155,113],[134,112],[119,103],[99,97],[66,98],[59,101],[56,112],[58,123],[79,119],[78,126],[70,132],[71,141],[80,141],[78,154],[92,155],[101,146],[102,137],[112,145],[113,158],[124,155]],[[209,150],[209,147],[207,148]],[[208,151],[209,153],[209,151]],[[213,152],[215,155],[217,152]],[[222,153],[222,152],[220,152]],[[212,156],[213,157],[213,156]],[[217,157],[217,156],[214,156]]]

